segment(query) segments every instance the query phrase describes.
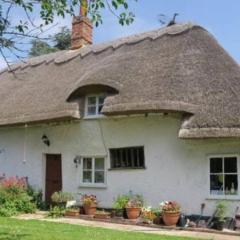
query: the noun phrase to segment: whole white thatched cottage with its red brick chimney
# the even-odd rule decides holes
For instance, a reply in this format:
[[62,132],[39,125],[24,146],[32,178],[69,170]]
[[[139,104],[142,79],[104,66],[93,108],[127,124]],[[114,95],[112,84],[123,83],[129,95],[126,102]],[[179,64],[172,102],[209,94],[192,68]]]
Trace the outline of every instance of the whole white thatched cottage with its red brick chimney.
[[0,73],[0,172],[52,192],[132,190],[212,214],[240,200],[240,68],[191,23],[91,45],[86,17],[72,49]]

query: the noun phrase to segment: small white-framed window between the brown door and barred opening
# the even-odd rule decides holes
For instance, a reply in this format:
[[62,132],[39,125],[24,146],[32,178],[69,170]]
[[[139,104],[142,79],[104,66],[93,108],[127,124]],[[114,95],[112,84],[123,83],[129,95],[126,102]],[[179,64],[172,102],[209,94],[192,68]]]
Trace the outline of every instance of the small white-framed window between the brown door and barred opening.
[[105,159],[101,157],[83,158],[82,183],[105,183]]

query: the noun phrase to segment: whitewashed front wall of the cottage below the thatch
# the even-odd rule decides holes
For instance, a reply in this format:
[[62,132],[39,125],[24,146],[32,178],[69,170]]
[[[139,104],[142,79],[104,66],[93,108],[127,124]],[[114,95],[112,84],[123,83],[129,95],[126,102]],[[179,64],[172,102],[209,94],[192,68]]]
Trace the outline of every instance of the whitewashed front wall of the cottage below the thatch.
[[[212,214],[214,201],[207,199],[207,155],[240,153],[240,141],[181,140],[179,127],[177,116],[151,115],[1,129],[0,174],[28,176],[32,185],[44,189],[44,154],[61,153],[63,190],[96,194],[101,206],[111,207],[114,197],[132,190],[142,194],[147,205],[176,200],[186,214],[198,214],[205,202],[205,214]],[[49,148],[41,141],[43,134],[51,141]],[[104,155],[108,169],[109,148],[142,145],[145,170],[107,171],[106,188],[79,188],[80,168],[73,163],[76,155]],[[230,209],[234,211],[238,203],[229,201]]]

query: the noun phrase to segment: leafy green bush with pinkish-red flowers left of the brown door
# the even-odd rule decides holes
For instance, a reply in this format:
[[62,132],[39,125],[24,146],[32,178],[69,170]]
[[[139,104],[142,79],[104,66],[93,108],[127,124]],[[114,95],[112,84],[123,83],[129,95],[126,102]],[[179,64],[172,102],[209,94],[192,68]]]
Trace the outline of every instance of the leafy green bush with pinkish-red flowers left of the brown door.
[[33,213],[36,204],[28,194],[24,178],[5,178],[0,186],[0,216],[10,217],[18,213]]

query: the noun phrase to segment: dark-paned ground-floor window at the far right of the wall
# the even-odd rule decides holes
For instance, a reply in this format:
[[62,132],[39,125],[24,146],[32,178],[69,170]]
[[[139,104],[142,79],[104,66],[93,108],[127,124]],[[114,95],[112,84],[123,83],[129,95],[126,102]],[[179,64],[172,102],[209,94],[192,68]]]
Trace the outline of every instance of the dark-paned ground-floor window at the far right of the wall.
[[238,158],[210,158],[210,194],[238,195]]

